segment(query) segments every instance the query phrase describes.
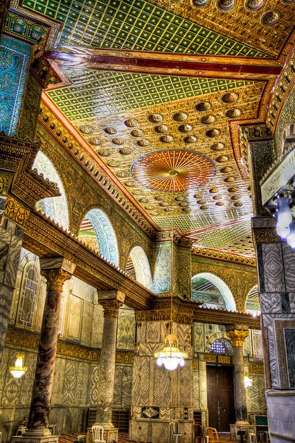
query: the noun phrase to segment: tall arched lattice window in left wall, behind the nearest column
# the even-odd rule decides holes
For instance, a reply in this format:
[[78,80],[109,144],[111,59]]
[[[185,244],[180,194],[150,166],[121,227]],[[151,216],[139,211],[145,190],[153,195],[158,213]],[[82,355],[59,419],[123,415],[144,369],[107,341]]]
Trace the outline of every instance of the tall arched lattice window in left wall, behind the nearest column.
[[30,260],[24,266],[17,309],[17,323],[33,328],[35,307],[39,293],[40,271],[38,264]]

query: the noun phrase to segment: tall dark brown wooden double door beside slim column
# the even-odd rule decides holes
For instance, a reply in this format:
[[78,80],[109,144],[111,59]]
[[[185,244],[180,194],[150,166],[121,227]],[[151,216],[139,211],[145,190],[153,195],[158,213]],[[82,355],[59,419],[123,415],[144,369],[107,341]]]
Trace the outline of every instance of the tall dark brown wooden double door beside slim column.
[[233,367],[207,365],[206,369],[209,426],[229,431],[229,425],[235,423]]

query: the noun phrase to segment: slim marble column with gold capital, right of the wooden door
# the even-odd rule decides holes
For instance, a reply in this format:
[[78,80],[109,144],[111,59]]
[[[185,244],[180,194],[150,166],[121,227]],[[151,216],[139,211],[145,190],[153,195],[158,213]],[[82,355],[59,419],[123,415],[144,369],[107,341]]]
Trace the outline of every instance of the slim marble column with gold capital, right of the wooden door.
[[226,335],[233,343],[233,359],[235,372],[235,424],[249,424],[247,414],[247,398],[244,387],[244,356],[243,343],[249,335],[247,326],[233,325],[226,327]]

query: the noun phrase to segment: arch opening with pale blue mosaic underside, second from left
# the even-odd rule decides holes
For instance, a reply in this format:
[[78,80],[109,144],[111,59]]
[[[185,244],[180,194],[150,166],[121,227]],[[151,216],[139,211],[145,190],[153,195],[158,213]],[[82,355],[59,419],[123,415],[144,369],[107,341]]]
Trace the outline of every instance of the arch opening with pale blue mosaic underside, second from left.
[[102,210],[89,210],[82,221],[79,237],[85,239],[89,246],[96,248],[102,257],[118,266],[119,253],[116,234],[109,218]]

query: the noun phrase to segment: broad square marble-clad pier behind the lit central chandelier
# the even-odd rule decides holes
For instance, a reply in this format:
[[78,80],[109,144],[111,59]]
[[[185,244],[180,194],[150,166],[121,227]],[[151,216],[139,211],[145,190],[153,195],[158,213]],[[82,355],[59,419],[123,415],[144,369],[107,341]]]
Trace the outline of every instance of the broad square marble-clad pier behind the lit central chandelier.
[[172,318],[172,334],[188,358],[183,368],[170,371],[159,367],[154,357],[170,333],[170,306],[136,312],[130,440],[168,442],[170,422],[177,422],[182,441],[193,442],[193,314],[179,307]]

